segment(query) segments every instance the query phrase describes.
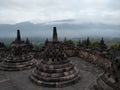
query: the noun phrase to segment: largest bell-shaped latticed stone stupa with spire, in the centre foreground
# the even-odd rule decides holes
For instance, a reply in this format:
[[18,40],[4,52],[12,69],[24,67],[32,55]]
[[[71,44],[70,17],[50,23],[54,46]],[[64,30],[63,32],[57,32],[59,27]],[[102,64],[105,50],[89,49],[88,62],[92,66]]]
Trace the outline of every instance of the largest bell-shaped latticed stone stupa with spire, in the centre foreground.
[[44,58],[32,72],[32,82],[45,87],[64,87],[76,83],[79,70],[67,59],[64,44],[58,41],[57,29],[53,28],[53,41],[49,41]]

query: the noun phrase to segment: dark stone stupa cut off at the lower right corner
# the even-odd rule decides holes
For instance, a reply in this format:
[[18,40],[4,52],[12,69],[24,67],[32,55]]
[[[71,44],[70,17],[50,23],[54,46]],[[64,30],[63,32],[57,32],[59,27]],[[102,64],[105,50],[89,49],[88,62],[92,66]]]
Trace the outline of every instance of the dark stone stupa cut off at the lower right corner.
[[91,90],[120,90],[120,52],[105,73],[97,78]]

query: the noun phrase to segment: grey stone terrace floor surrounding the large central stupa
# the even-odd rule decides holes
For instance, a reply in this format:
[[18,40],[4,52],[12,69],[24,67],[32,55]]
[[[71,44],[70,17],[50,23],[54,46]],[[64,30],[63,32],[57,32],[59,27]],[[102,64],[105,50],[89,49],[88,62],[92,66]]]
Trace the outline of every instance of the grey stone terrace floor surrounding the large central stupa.
[[99,67],[78,57],[69,58],[80,69],[81,79],[78,83],[64,88],[45,88],[32,83],[28,76],[31,70],[0,71],[0,90],[88,90],[96,76],[103,72]]

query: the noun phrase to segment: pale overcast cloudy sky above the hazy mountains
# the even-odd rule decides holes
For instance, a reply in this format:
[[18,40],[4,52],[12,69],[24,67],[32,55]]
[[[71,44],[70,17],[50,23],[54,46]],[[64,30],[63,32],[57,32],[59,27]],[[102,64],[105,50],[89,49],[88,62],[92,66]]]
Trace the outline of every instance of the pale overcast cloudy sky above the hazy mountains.
[[0,0],[0,23],[59,20],[120,24],[120,0]]

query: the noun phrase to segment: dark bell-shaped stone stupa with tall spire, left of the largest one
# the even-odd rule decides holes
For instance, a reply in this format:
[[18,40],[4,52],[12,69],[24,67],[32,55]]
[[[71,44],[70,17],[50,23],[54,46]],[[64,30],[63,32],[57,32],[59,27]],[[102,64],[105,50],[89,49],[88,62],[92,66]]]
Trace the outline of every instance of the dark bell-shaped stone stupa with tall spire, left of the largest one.
[[6,58],[0,64],[1,70],[17,71],[32,68],[36,65],[35,59],[29,54],[28,44],[21,40],[20,31],[17,30],[17,38],[11,43],[11,48]]

